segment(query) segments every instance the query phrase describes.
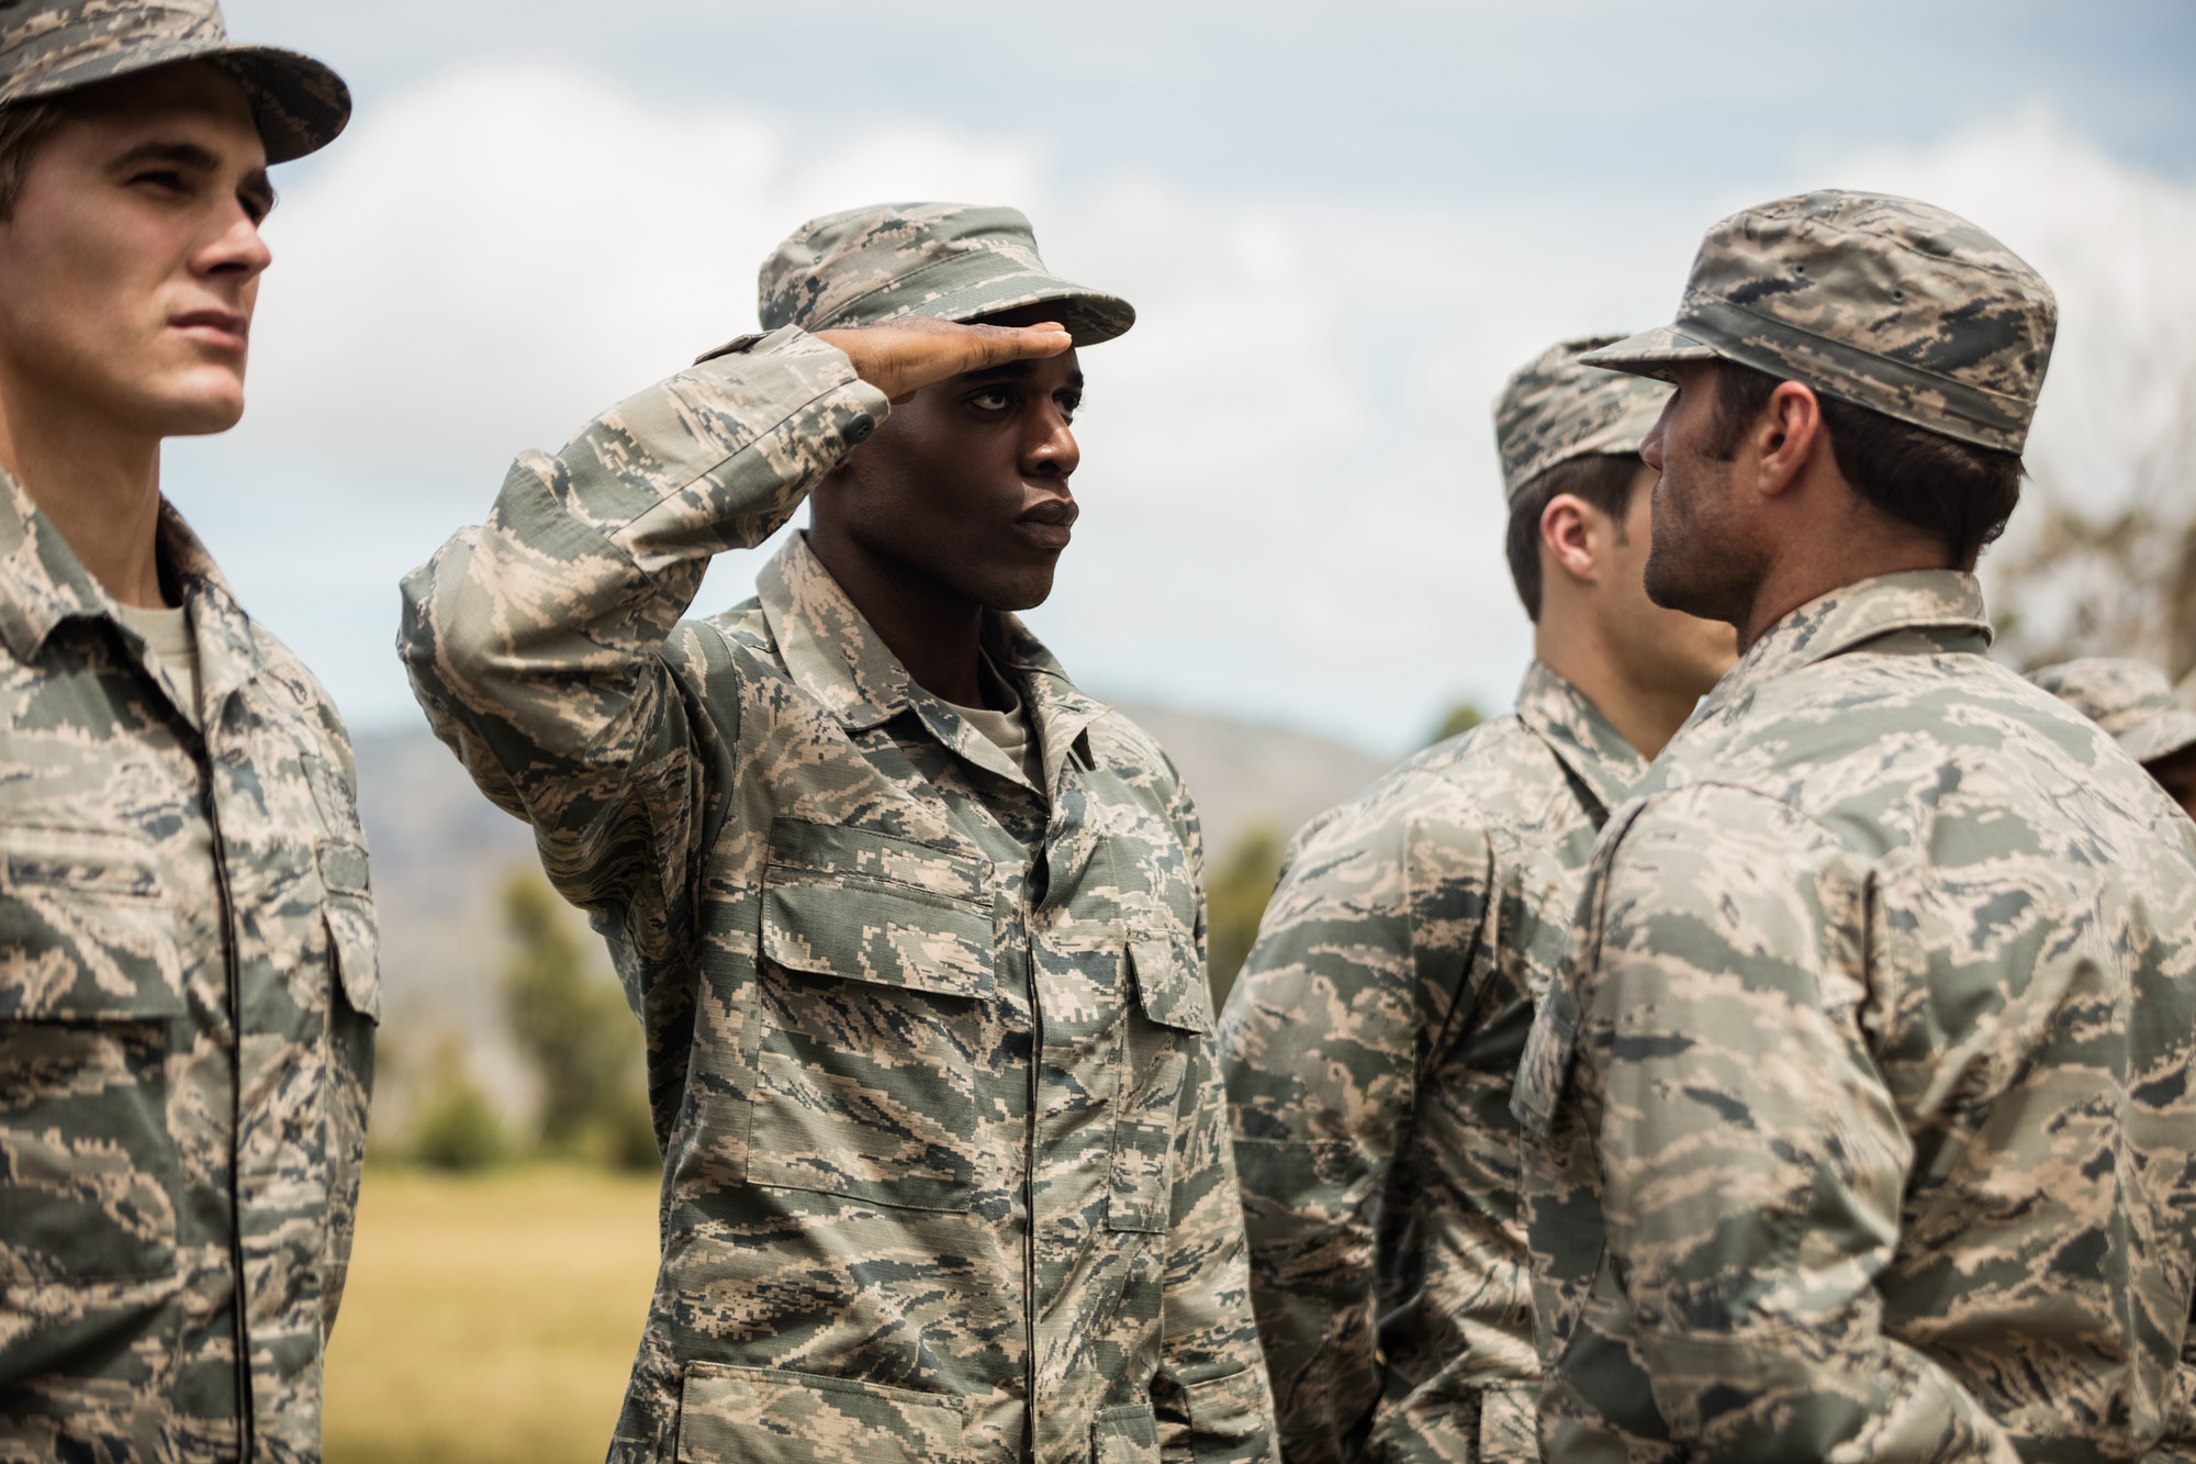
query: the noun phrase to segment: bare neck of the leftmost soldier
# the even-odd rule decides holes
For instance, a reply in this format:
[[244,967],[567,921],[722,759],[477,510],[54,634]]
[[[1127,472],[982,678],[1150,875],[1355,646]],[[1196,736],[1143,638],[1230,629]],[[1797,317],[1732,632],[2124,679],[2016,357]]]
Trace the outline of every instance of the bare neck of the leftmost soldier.
[[35,385],[0,387],[0,468],[53,521],[77,563],[121,600],[160,591],[160,437],[116,429]]

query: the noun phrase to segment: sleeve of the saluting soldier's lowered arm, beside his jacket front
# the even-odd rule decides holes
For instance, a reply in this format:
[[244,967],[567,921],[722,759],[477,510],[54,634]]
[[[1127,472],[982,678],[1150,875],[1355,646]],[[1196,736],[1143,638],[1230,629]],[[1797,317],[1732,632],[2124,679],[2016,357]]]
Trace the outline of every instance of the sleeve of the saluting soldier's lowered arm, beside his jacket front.
[[[1168,822],[1190,859],[1197,897],[1195,976],[1203,985],[1203,833],[1179,776],[1173,780]],[[1159,1369],[1153,1378],[1159,1457],[1166,1464],[1280,1464],[1274,1391],[1250,1308],[1243,1198],[1228,1145],[1228,1095],[1210,1035],[1188,1049],[1184,1110],[1175,1125]]]

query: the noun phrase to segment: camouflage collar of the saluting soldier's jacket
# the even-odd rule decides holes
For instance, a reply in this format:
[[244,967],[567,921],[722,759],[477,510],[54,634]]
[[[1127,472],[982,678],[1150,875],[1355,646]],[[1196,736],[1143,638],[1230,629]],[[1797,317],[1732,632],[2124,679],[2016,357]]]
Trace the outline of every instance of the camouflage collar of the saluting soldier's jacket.
[[[795,686],[848,732],[867,732],[900,712],[916,712],[931,736],[968,763],[1028,785],[1021,767],[995,741],[907,675],[900,657],[870,629],[804,534],[793,534],[762,567],[755,596]],[[984,648],[1021,692],[1043,747],[1045,785],[1054,787],[1067,750],[1111,708],[1076,690],[1043,642],[1015,615],[986,615]]]

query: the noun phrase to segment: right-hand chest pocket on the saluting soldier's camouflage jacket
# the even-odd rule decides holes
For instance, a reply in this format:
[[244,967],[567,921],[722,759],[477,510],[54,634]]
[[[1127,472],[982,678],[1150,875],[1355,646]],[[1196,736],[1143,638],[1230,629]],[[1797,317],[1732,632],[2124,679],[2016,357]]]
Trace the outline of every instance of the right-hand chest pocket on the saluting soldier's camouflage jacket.
[[1127,967],[1135,1000],[1124,1018],[1107,1229],[1164,1231],[1181,1084],[1212,1013],[1195,954],[1175,939],[1131,939]]

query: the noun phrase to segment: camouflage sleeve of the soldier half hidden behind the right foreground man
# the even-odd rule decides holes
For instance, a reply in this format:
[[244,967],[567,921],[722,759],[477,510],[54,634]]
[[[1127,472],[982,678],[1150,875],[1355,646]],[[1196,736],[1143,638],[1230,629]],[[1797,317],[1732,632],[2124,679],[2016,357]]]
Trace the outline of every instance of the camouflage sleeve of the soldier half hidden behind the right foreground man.
[[1289,1464],[1348,1457],[1381,1396],[1377,1202],[1482,928],[1484,838],[1405,802],[1298,835],[1221,1022]]

